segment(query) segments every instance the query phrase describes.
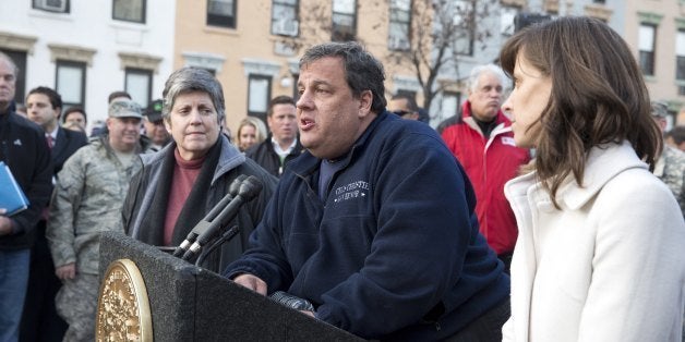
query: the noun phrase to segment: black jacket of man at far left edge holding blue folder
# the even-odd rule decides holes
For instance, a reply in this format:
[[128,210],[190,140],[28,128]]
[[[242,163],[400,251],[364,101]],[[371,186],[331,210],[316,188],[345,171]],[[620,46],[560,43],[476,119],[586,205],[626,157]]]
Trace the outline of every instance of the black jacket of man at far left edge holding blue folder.
[[0,160],[12,171],[28,198],[28,209],[11,217],[15,233],[0,236],[0,249],[28,248],[32,230],[52,192],[52,162],[45,133],[13,111],[0,114]]

